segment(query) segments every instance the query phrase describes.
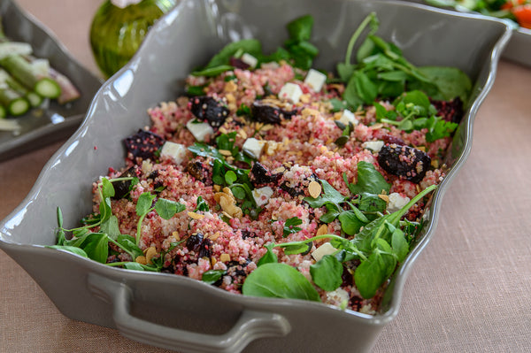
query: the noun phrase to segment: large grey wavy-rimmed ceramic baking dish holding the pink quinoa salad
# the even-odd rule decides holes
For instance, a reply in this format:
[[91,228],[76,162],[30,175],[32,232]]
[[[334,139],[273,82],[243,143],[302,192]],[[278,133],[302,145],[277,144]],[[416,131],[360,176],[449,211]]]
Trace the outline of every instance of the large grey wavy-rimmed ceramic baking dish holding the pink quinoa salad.
[[[227,293],[165,273],[133,272],[44,248],[55,242],[56,208],[75,225],[92,207],[92,182],[123,165],[121,140],[149,124],[146,109],[172,100],[183,79],[224,43],[254,36],[273,50],[285,24],[315,19],[316,67],[344,58],[351,33],[369,12],[379,35],[416,65],[458,66],[474,82],[466,119],[447,163],[453,165],[432,199],[427,226],[393,276],[381,311],[368,316],[322,303]],[[481,35],[478,35],[481,34]],[[404,281],[434,233],[443,193],[470,151],[473,118],[491,88],[511,29],[503,22],[422,5],[345,0],[183,0],[152,28],[141,50],[107,81],[78,131],[51,157],[27,198],[0,224],[0,248],[19,263],[68,318],[109,326],[137,341],[181,352],[362,352],[398,313]],[[82,305],[80,305],[82,303]],[[104,342],[102,342],[104,344]]]

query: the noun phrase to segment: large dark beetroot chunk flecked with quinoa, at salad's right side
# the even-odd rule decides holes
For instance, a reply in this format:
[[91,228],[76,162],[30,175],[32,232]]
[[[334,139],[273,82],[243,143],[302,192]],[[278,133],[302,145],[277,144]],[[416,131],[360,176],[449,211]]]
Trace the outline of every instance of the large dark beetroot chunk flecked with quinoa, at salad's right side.
[[378,163],[387,173],[419,183],[426,175],[431,158],[421,150],[391,143],[381,148]]

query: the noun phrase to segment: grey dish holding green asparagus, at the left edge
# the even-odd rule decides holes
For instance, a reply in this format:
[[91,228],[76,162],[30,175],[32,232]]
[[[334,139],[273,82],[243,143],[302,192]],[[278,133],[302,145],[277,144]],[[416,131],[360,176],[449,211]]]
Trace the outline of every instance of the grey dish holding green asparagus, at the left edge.
[[52,100],[46,109],[32,110],[16,118],[20,126],[16,134],[0,131],[0,160],[3,160],[72,134],[80,126],[103,81],[79,64],[55,35],[13,0],[0,0],[0,18],[5,35],[12,41],[30,43],[35,57],[48,58],[50,65],[73,81],[81,93],[70,104],[61,105]]

